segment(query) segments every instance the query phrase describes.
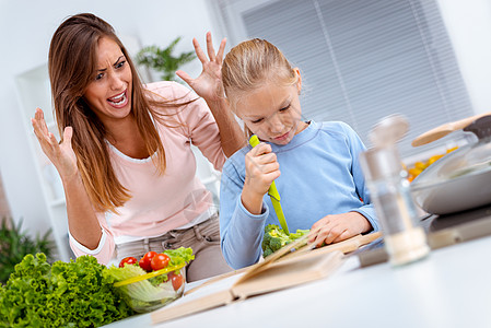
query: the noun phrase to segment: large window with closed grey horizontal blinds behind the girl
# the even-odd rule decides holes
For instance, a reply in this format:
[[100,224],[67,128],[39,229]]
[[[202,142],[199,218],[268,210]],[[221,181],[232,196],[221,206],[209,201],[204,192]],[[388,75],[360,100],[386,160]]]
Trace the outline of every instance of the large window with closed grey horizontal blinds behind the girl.
[[[366,145],[372,126],[400,113],[417,136],[474,115],[434,0],[221,0],[231,45],[266,38],[301,69],[305,119],[342,120]],[[445,139],[444,139],[445,140]]]

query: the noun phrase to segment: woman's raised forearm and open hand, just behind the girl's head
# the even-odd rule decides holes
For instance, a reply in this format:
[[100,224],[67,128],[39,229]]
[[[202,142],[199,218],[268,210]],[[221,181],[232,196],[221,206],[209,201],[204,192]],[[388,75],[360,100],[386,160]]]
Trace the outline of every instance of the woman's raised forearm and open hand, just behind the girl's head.
[[176,74],[186,81],[195,92],[208,104],[220,129],[220,140],[223,152],[227,157],[246,144],[244,132],[238,126],[229,104],[224,97],[222,85],[222,61],[226,39],[222,39],[219,51],[215,52],[211,33],[207,33],[208,58],[196,38],[192,39],[196,55],[202,63],[202,72],[197,79],[191,79],[186,72]]

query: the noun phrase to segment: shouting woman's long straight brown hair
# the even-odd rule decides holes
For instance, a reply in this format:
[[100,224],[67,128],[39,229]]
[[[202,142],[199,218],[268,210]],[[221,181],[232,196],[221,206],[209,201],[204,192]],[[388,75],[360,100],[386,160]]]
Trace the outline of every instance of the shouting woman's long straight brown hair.
[[[86,86],[96,71],[98,39],[108,37],[116,42],[131,68],[131,115],[152,156],[159,174],[165,172],[165,151],[152,118],[162,121],[155,106],[178,107],[175,99],[162,102],[143,89],[128,51],[104,20],[81,13],[67,19],[55,32],[49,47],[49,79],[55,116],[60,136],[66,127],[73,128],[72,148],[89,198],[97,211],[116,211],[131,198],[117,179],[109,164],[106,144],[107,130],[83,98]],[[192,102],[192,101],[191,101]]]

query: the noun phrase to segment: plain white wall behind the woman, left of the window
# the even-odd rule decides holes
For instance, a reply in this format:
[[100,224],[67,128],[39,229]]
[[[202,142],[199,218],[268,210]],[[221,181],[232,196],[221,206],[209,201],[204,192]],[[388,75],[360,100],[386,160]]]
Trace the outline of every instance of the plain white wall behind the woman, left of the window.
[[[206,0],[0,0],[0,172],[12,216],[23,218],[32,233],[46,231],[49,221],[24,130],[30,122],[20,114],[14,78],[45,63],[55,30],[80,12],[100,15],[118,34],[136,36],[143,46],[166,46],[183,36],[176,52],[192,50],[192,37],[204,45],[207,31],[212,32],[215,46],[223,37]],[[198,60],[184,67],[191,77],[200,68]]]

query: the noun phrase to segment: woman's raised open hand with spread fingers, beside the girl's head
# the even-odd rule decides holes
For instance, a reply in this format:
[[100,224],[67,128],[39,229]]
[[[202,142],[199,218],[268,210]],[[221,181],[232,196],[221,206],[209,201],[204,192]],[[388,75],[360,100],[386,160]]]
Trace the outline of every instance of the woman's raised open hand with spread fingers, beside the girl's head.
[[211,39],[211,33],[207,33],[207,51],[208,57],[199,46],[196,38],[192,39],[196,55],[201,61],[203,68],[201,74],[198,78],[191,79],[188,73],[184,71],[177,71],[176,74],[183,79],[190,87],[204,101],[218,102],[223,97],[222,86],[222,60],[223,52],[225,50],[226,39],[222,39],[220,43],[219,51],[215,52]]

